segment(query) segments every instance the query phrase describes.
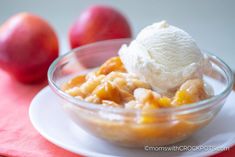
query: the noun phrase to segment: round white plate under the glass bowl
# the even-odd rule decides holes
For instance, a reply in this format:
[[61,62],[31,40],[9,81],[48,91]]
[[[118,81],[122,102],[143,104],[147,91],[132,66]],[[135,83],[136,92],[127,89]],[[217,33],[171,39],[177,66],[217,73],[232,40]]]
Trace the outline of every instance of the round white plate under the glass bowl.
[[[55,95],[49,87],[41,90],[33,99],[29,116],[38,132],[52,143],[74,153],[86,156],[128,156],[128,157],[170,157],[170,156],[208,156],[218,152],[207,151],[176,151],[159,152],[143,149],[122,148],[106,143],[84,132],[76,126],[62,111]],[[235,144],[235,93],[232,92],[219,115],[205,128],[191,138],[174,144],[174,146],[214,146],[231,147]]]

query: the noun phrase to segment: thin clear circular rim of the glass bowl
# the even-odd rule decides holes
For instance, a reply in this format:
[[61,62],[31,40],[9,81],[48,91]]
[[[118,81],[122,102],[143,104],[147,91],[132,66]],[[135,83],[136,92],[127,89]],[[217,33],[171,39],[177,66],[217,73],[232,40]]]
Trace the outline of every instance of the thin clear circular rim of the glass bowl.
[[[139,112],[143,112],[143,110],[141,110],[141,109],[126,109],[126,108],[107,107],[107,106],[97,105],[94,103],[90,103],[90,102],[86,102],[86,101],[74,98],[74,97],[68,95],[67,93],[65,93],[64,91],[62,91],[60,89],[60,87],[56,85],[56,82],[53,80],[53,74],[55,72],[57,64],[66,56],[68,56],[72,53],[75,53],[75,52],[78,53],[79,51],[81,51],[83,49],[87,49],[89,47],[93,47],[96,45],[106,45],[106,44],[114,43],[114,42],[127,43],[127,42],[130,42],[131,40],[132,40],[131,38],[122,38],[122,39],[98,41],[98,42],[94,42],[91,44],[77,47],[77,48],[72,49],[72,50],[68,51],[67,53],[59,56],[57,59],[55,59],[53,61],[53,63],[50,65],[50,67],[48,69],[47,77],[48,77],[49,86],[56,93],[56,95],[64,98],[66,101],[69,101],[70,103],[74,104],[76,107],[82,107],[83,109],[87,109],[90,111],[95,111],[95,112],[105,111],[105,112],[119,113],[119,114],[126,114],[126,113],[136,114]],[[203,51],[203,54],[207,54],[208,56],[212,57],[213,59],[219,61],[220,64],[222,64],[222,67],[219,67],[219,68],[222,69],[222,71],[225,73],[225,77],[228,82],[226,87],[224,88],[224,90],[215,96],[212,96],[208,99],[205,99],[205,100],[202,100],[202,101],[199,101],[196,103],[191,103],[188,105],[183,105],[183,106],[178,106],[178,107],[148,110],[147,113],[167,114],[167,113],[174,112],[174,113],[185,113],[186,114],[186,113],[196,112],[196,111],[208,108],[210,106],[213,106],[214,103],[212,103],[212,102],[221,101],[221,100],[223,100],[223,98],[225,98],[229,95],[229,93],[232,91],[233,82],[234,82],[234,76],[233,76],[231,68],[222,59],[220,59],[216,55],[209,53],[203,49],[201,49],[201,51]],[[82,51],[82,52],[84,52],[84,51]]]

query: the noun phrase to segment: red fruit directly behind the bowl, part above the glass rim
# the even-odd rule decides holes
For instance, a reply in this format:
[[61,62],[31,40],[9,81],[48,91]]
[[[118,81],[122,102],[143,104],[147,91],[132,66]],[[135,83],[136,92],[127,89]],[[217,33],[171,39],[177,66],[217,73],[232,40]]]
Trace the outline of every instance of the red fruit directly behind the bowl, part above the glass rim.
[[127,19],[116,9],[104,5],[94,5],[86,9],[69,29],[71,48],[131,36]]

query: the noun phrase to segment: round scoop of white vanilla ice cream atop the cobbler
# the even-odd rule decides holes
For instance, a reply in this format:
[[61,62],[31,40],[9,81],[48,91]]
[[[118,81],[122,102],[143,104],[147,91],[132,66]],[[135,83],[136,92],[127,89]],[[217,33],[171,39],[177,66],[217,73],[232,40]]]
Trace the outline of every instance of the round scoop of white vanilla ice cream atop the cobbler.
[[171,95],[188,79],[201,78],[204,56],[193,38],[166,21],[144,28],[119,56],[129,73]]

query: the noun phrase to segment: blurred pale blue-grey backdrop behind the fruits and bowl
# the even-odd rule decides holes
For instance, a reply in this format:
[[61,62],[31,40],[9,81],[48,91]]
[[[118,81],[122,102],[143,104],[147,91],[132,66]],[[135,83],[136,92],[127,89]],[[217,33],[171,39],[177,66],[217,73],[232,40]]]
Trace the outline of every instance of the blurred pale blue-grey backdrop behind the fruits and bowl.
[[70,25],[88,6],[107,4],[129,19],[135,35],[156,21],[167,20],[198,45],[228,63],[235,71],[235,1],[233,0],[0,0],[0,24],[18,12],[32,12],[48,20],[60,38],[60,53],[69,50]]

